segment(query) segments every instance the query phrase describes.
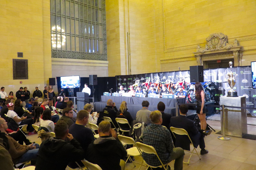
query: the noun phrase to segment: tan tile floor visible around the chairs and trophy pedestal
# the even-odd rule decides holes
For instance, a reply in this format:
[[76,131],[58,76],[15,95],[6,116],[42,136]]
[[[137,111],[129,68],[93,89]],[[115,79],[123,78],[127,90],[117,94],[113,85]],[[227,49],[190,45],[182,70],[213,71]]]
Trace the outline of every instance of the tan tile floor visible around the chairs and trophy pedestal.
[[[221,123],[219,121],[207,120],[207,123],[212,126],[216,132],[221,130]],[[256,126],[248,125],[249,129],[253,129],[253,133],[256,134]],[[212,132],[211,135],[205,136],[205,145],[209,150],[208,154],[200,155],[199,160],[196,154],[191,156],[189,165],[183,164],[184,170],[256,170],[256,141],[250,139],[243,139],[237,137],[231,137],[231,140],[219,140],[217,137],[221,136]],[[31,141],[41,143],[41,139],[37,138],[37,135],[30,135],[28,138]],[[200,148],[197,151],[200,153]],[[187,161],[190,153],[185,151],[184,160]],[[141,162],[141,157],[134,157],[136,162]],[[136,163],[135,163],[136,164]],[[173,170],[174,161],[169,165]],[[125,170],[137,170],[132,163],[127,163]],[[146,167],[142,166],[141,170],[145,170]]]

